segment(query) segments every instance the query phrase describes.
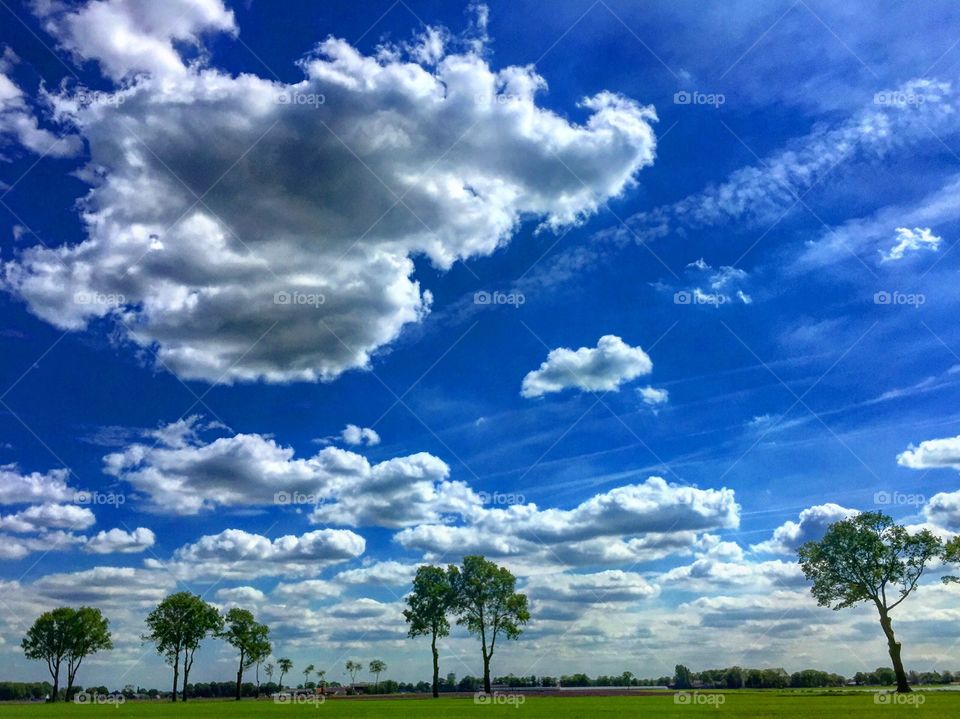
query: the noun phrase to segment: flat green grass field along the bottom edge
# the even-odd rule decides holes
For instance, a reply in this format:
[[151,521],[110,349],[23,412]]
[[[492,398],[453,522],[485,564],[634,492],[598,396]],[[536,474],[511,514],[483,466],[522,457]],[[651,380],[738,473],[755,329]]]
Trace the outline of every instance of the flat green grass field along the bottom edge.
[[[120,706],[78,706],[73,704],[5,704],[0,717],[95,717],[125,719],[243,719],[245,717],[676,717],[729,716],[810,717],[811,719],[850,719],[850,717],[912,716],[960,717],[960,693],[929,692],[913,695],[904,705],[877,704],[869,692],[822,693],[750,692],[704,693],[677,704],[673,694],[622,697],[524,697],[521,704],[483,705],[472,698],[352,700],[332,699],[319,705],[283,705],[269,700],[224,702],[195,701],[187,705],[129,702]],[[711,698],[712,697],[712,698]],[[722,702],[722,703],[720,703]]]

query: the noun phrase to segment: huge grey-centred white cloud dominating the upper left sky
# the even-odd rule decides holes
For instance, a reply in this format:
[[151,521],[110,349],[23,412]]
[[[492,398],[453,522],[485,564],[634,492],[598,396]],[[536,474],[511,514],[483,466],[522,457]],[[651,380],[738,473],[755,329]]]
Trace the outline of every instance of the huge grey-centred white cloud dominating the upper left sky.
[[600,92],[572,124],[537,106],[545,82],[532,67],[496,71],[470,52],[424,67],[330,38],[290,85],[182,72],[169,40],[228,26],[215,3],[184,5],[179,29],[173,10],[148,12],[156,27],[129,29],[131,47],[156,41],[143,58],[115,52],[113,26],[91,19],[109,12],[123,32],[128,6],[100,5],[48,26],[113,76],[150,66],[157,77],[115,102],[59,99],[90,146],[87,238],[27,248],[0,281],[57,327],[114,320],[184,378],[317,381],[368,367],[429,311],[413,256],[447,269],[527,219],[578,223],[653,162],[652,108]]

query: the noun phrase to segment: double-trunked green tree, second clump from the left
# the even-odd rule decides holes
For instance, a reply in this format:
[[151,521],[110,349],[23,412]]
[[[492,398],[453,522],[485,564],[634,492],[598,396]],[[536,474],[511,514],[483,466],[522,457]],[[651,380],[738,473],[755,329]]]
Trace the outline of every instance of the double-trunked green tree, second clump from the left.
[[223,628],[220,612],[196,594],[177,592],[165,597],[147,615],[147,628],[150,631],[143,640],[153,642],[157,653],[173,667],[172,701],[177,700],[177,681],[183,668],[180,697],[186,701],[194,654],[204,639]]

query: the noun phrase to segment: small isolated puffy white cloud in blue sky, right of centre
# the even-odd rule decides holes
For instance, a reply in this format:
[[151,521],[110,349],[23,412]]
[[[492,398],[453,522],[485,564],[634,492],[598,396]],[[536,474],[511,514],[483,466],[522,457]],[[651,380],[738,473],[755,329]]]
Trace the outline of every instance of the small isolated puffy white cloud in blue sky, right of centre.
[[596,347],[551,350],[540,368],[523,378],[520,394],[542,397],[570,387],[611,392],[652,371],[653,362],[640,347],[631,347],[616,335],[604,335]]

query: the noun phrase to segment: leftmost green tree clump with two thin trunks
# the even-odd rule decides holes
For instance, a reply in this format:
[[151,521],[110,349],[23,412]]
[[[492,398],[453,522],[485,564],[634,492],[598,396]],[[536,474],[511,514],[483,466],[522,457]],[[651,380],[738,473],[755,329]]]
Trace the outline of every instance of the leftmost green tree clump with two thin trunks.
[[45,661],[53,679],[50,701],[60,694],[60,669],[67,663],[66,698],[73,693],[73,682],[85,657],[103,649],[113,649],[109,621],[93,607],[59,607],[44,612],[20,643],[27,659]]

